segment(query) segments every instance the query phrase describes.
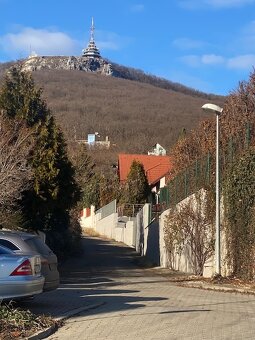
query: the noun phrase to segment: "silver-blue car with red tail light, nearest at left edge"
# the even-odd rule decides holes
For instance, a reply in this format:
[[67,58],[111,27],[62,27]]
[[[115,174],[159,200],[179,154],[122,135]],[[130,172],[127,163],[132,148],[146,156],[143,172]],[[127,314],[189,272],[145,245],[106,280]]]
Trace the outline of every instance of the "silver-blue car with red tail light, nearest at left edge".
[[17,255],[0,246],[0,301],[34,296],[43,291],[40,255]]

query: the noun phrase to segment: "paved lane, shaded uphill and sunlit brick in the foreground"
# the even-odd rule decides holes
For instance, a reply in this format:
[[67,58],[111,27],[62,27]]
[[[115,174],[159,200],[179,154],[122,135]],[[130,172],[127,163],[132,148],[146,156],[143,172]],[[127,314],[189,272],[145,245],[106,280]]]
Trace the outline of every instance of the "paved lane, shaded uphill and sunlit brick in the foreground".
[[132,250],[107,240],[88,238],[84,247],[84,256],[63,267],[62,288],[103,304],[49,339],[255,339],[254,295],[180,287],[136,267]]

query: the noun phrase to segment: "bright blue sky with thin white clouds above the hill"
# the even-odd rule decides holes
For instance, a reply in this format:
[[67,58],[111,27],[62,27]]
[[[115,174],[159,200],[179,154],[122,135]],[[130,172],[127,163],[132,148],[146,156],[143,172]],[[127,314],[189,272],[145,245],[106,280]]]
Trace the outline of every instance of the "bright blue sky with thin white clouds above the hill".
[[255,65],[255,0],[0,0],[0,62],[80,55],[91,18],[101,55],[227,95]]

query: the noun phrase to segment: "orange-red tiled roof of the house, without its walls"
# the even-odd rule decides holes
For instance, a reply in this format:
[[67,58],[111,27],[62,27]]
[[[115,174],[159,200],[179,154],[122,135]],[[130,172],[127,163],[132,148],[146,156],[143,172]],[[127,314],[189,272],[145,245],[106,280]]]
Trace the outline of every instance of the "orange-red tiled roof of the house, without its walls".
[[160,178],[164,177],[173,167],[172,160],[169,156],[119,154],[120,181],[127,179],[131,164],[134,160],[143,164],[150,185],[158,182]]

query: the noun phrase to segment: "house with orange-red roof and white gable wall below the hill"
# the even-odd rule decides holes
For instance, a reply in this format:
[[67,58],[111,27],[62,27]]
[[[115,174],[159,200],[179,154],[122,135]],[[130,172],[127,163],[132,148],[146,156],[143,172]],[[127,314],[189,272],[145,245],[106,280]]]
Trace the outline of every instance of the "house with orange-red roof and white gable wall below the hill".
[[160,189],[165,186],[166,179],[173,168],[172,159],[169,156],[119,154],[118,172],[121,183],[127,180],[134,160],[143,164],[151,191],[155,195],[155,203],[159,203]]

